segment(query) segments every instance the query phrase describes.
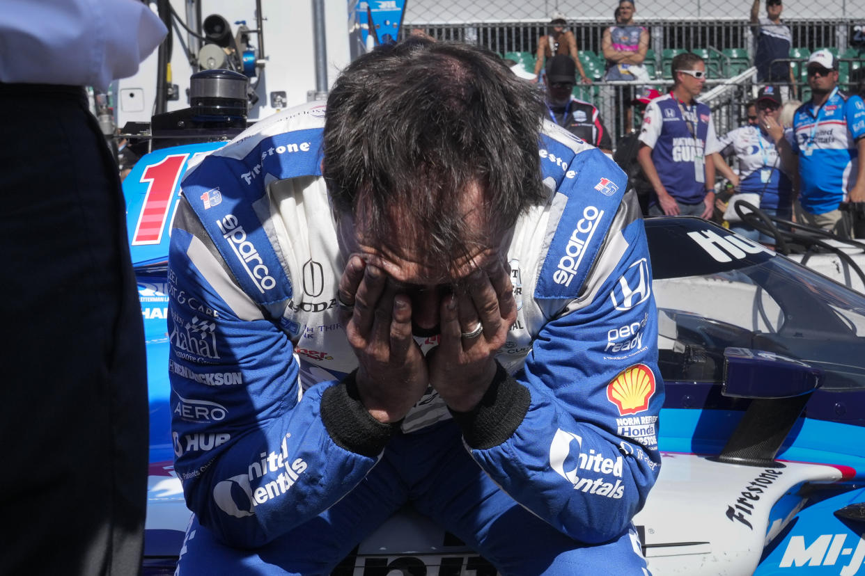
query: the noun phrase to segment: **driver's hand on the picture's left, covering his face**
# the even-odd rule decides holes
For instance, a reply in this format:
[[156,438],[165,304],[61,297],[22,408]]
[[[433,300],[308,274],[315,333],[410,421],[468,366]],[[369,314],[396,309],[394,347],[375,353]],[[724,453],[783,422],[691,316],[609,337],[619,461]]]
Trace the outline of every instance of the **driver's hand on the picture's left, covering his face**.
[[426,392],[426,360],[412,336],[412,304],[388,275],[352,255],[339,282],[343,326],[357,356],[361,402],[381,422],[400,421]]

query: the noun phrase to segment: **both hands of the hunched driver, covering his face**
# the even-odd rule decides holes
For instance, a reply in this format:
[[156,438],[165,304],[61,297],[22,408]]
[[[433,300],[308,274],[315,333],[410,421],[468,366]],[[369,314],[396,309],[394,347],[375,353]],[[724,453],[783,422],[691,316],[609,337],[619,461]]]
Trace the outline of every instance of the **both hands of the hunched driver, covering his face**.
[[[503,263],[478,269],[459,282],[439,306],[439,346],[423,357],[412,336],[412,301],[398,283],[361,256],[352,255],[339,286],[343,326],[358,359],[356,383],[361,401],[380,421],[403,418],[428,385],[454,410],[474,408],[496,373],[495,353],[516,320],[509,270]],[[466,339],[477,322],[477,338]]]

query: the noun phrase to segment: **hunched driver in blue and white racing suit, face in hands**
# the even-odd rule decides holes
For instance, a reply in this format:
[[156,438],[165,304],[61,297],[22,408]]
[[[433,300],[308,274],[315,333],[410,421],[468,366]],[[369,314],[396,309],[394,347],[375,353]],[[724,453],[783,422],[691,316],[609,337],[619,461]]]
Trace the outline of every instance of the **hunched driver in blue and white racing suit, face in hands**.
[[326,120],[285,111],[190,168],[179,573],[327,574],[406,503],[501,573],[645,573],[631,517],[663,383],[643,222],[621,170],[539,134],[539,110],[495,54],[407,41],[352,63]]

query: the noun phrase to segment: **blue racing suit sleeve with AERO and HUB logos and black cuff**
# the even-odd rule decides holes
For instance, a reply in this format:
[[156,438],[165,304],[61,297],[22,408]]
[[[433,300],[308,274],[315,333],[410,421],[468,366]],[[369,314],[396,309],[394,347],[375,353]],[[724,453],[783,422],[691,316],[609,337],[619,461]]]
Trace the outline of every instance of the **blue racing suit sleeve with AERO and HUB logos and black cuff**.
[[169,268],[175,469],[203,525],[229,545],[256,547],[351,491],[393,427],[362,408],[351,376],[298,400],[291,340],[181,206]]

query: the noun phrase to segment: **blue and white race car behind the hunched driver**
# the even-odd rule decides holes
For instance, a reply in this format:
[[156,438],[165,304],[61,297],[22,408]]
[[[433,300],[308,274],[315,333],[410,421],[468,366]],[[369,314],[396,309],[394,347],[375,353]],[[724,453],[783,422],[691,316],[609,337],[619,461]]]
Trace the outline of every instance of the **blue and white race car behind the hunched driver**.
[[[167,281],[170,223],[187,163],[222,145],[158,149],[124,182],[150,387],[145,574],[173,573],[190,516],[172,467],[165,319],[171,298],[203,305]],[[699,218],[645,227],[654,282],[637,289],[657,301],[666,383],[662,469],[634,521],[651,573],[865,574],[865,296]],[[609,339],[636,347],[642,331]],[[618,422],[631,437],[645,424]],[[496,571],[406,510],[335,573]]]

